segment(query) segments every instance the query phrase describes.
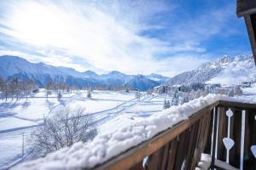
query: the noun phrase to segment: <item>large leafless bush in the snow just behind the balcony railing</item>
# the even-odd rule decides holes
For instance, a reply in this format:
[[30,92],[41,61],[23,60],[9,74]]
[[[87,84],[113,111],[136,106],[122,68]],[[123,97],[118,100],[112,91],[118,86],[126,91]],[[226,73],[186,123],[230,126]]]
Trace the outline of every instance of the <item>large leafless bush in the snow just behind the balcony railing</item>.
[[64,109],[55,116],[44,117],[44,125],[32,132],[28,139],[32,150],[45,155],[79,141],[87,141],[96,136],[96,128],[90,128],[92,116],[84,116],[84,110]]

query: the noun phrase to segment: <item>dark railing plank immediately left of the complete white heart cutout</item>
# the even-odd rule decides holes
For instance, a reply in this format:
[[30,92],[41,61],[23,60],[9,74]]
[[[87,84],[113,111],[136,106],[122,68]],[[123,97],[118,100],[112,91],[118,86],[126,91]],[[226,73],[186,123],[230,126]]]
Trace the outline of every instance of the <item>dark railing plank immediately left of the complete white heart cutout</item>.
[[223,139],[227,137],[228,119],[226,116],[227,108],[220,107],[218,110],[218,149],[217,158],[221,161],[226,161],[226,149]]

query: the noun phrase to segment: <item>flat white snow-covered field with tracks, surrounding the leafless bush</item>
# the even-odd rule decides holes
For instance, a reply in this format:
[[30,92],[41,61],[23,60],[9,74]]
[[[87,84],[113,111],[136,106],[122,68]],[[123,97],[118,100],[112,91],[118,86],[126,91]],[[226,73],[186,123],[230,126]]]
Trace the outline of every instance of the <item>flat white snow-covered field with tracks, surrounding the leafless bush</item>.
[[[93,114],[97,133],[109,132],[124,126],[135,118],[148,117],[163,110],[166,96],[142,95],[135,99],[134,93],[93,91],[91,99],[84,91],[56,94],[46,98],[44,89],[26,99],[5,101],[0,99],[0,169],[7,168],[20,161],[22,156],[22,134],[25,141],[32,129],[42,123],[44,116],[51,116],[63,107],[82,108],[84,114]],[[120,120],[121,119],[121,120]],[[114,124],[114,127],[113,127]]]

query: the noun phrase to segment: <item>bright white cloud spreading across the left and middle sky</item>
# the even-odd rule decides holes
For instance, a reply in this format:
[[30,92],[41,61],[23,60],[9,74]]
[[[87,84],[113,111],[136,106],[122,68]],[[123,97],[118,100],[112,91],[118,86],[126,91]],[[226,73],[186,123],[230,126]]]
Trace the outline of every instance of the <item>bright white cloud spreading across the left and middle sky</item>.
[[[34,60],[41,59],[51,65],[71,66],[79,71],[159,72],[173,76],[207,60],[202,57],[207,49],[201,47],[199,40],[202,33],[208,31],[203,28],[204,19],[198,19],[198,26],[193,26],[191,20],[185,29],[190,30],[188,35],[179,30],[185,23],[170,27],[168,35],[173,42],[141,35],[143,31],[166,29],[161,22],[158,25],[150,22],[156,14],[170,13],[174,4],[160,1],[17,1],[5,4],[4,8],[8,8],[8,13],[1,17],[0,24],[13,30],[2,27],[0,32],[32,45],[35,51],[44,55]],[[216,19],[216,22],[223,21]],[[216,26],[211,26],[209,36],[218,32]],[[55,48],[62,53],[55,54],[52,50]],[[156,57],[161,55],[165,57]],[[33,60],[34,56],[26,54],[25,57]]]

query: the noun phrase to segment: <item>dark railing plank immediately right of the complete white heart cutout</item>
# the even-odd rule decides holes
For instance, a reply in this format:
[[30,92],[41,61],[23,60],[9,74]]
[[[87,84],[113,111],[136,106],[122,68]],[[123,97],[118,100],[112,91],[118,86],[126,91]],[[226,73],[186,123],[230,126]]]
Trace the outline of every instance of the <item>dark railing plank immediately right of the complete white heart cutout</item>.
[[230,131],[231,136],[235,142],[234,146],[230,150],[230,165],[234,167],[240,167],[240,155],[241,155],[241,110],[235,110],[233,119],[234,127],[233,131]]

